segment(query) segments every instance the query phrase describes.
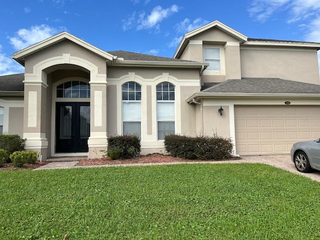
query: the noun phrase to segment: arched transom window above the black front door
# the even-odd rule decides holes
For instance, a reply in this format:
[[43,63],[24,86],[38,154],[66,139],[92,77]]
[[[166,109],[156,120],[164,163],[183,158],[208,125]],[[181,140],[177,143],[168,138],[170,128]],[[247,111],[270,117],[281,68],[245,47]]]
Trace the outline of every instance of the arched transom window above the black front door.
[[89,98],[90,84],[83,81],[67,81],[56,87],[56,97]]

